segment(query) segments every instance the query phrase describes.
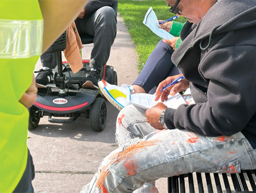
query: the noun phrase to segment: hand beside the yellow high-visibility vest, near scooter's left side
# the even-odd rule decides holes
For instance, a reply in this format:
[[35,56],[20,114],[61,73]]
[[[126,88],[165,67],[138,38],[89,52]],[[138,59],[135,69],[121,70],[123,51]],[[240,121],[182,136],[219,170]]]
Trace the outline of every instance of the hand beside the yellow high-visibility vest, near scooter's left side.
[[26,106],[26,108],[32,106],[36,100],[36,92],[38,92],[38,89],[35,86],[35,76],[33,74],[32,83],[27,91],[20,98],[19,102]]

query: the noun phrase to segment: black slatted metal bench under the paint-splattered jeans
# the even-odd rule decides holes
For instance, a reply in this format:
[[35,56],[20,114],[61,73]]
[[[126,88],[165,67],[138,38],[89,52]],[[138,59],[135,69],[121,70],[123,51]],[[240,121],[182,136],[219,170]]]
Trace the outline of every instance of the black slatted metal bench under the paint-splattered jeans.
[[168,192],[256,192],[256,170],[237,174],[189,173],[168,177]]

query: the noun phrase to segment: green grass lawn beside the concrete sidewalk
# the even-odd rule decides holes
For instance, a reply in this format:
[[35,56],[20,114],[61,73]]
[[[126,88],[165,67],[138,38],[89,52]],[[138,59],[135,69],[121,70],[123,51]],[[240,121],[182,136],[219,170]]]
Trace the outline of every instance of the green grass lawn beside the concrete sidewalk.
[[[164,0],[118,0],[118,12],[125,21],[136,46],[136,52],[139,57],[139,72],[141,72],[152,50],[154,50],[155,46],[162,39],[143,24],[144,16],[150,7],[152,7],[159,20],[166,20],[174,16],[174,14],[168,11],[169,7]],[[185,22],[186,19],[181,17],[177,18],[175,21]]]

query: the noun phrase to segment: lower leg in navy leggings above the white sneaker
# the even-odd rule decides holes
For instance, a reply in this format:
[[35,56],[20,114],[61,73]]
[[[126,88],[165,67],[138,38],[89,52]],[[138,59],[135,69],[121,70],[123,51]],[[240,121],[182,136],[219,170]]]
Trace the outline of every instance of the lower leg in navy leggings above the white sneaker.
[[171,56],[174,49],[160,40],[156,48],[150,54],[138,78],[132,85],[138,85],[149,93],[152,88],[168,76],[179,74],[179,70],[172,63]]

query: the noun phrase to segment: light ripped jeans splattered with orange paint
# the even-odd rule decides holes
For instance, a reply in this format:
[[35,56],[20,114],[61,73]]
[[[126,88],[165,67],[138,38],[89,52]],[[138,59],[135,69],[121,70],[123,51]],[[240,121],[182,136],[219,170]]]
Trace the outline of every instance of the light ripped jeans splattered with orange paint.
[[120,111],[119,148],[104,158],[84,192],[158,192],[154,182],[159,178],[256,168],[256,153],[241,132],[207,137],[186,130],[155,130],[144,112],[133,105]]

